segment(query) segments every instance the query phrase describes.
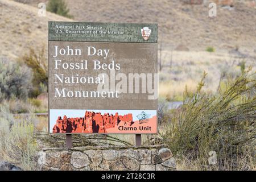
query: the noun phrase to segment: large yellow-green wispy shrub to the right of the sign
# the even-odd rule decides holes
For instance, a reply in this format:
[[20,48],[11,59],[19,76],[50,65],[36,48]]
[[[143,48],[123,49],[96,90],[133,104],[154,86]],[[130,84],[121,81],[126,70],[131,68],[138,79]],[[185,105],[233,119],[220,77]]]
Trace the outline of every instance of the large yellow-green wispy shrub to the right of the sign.
[[[161,133],[176,156],[185,156],[201,169],[253,169],[255,141],[255,74],[248,72],[226,82],[216,94],[201,91],[184,94],[184,104],[173,114],[171,125]],[[217,164],[208,163],[217,152]]]

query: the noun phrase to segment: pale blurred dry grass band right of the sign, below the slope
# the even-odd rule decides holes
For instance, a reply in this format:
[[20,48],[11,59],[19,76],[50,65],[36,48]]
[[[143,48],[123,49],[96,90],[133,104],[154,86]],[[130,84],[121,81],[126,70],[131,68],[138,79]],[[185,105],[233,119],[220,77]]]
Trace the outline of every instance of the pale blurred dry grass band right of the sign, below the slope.
[[[242,63],[256,71],[253,57],[241,57],[238,52],[195,52],[162,50],[162,71],[159,73],[159,96],[168,101],[181,101],[185,85],[189,91],[196,89],[203,72],[207,72],[204,91],[217,91],[220,80],[227,76],[241,73]],[[256,54],[255,54],[256,56]],[[170,65],[170,59],[172,59]]]

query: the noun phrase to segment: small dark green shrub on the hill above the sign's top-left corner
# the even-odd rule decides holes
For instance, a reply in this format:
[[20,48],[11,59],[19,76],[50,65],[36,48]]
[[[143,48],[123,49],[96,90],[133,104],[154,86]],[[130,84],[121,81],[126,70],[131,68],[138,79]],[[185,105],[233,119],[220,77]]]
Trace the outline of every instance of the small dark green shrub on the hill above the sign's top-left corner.
[[49,0],[46,10],[50,11],[51,13],[65,16],[67,18],[73,17],[72,15],[69,14],[69,9],[67,8],[67,4],[63,0]]

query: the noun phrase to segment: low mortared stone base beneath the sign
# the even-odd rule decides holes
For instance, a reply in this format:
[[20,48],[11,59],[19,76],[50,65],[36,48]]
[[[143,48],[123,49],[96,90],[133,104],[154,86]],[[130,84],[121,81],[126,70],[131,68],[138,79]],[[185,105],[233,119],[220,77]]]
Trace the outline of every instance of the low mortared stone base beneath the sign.
[[38,153],[38,170],[176,170],[166,145],[44,148]]

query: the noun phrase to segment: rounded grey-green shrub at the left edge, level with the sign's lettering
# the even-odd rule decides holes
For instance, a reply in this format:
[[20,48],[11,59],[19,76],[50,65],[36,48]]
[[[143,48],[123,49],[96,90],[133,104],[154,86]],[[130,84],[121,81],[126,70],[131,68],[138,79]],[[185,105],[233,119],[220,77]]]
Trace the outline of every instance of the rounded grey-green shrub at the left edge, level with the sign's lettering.
[[26,99],[31,80],[31,71],[26,66],[0,59],[0,102],[10,98]]

